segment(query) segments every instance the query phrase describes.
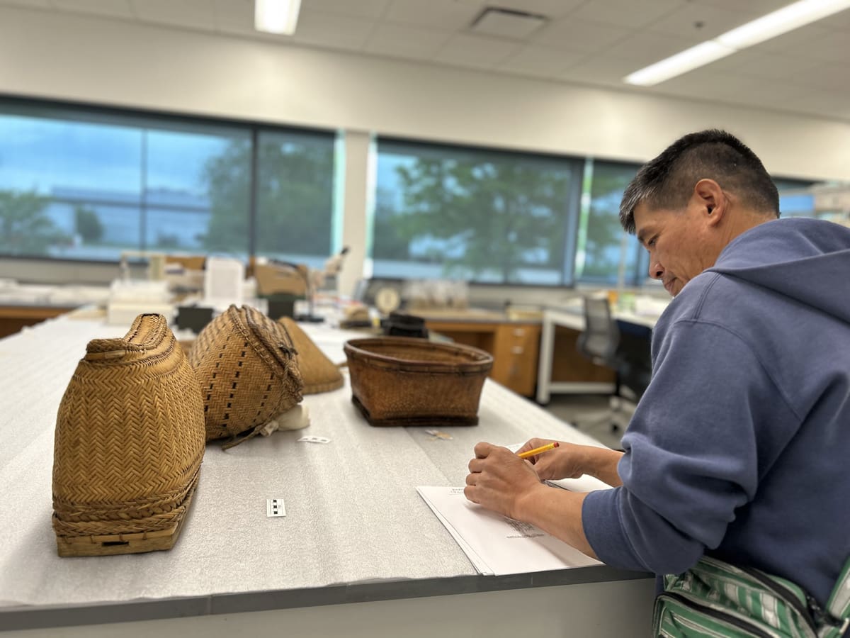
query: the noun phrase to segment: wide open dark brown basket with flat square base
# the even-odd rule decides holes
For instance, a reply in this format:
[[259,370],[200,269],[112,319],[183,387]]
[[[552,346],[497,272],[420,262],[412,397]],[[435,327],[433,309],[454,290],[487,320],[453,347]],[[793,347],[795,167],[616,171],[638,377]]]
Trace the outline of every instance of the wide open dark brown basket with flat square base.
[[351,339],[352,401],[372,425],[475,425],[493,357],[425,339]]

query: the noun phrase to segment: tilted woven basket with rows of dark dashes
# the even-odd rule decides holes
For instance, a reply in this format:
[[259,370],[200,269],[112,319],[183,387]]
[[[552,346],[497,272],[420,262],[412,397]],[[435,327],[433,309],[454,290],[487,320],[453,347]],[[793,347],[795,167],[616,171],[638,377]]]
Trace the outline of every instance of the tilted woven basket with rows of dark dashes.
[[201,384],[207,441],[233,447],[302,399],[292,338],[250,306],[231,305],[201,330],[189,354]]

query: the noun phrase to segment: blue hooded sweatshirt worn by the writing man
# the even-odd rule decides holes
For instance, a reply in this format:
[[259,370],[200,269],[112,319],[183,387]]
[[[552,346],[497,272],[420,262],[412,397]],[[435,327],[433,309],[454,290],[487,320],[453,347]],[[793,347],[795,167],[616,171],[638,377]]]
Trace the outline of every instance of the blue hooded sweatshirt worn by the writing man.
[[582,508],[599,559],[663,574],[710,554],[824,605],[850,558],[850,228],[736,237],[667,307],[652,356],[623,485]]

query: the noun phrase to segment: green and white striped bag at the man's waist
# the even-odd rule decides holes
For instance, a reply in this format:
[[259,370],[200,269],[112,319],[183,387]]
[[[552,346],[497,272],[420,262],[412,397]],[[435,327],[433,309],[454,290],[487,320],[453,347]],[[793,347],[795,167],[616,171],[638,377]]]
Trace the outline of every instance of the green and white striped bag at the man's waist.
[[665,638],[840,638],[850,626],[850,561],[821,610],[796,584],[704,557],[664,577],[654,635]]

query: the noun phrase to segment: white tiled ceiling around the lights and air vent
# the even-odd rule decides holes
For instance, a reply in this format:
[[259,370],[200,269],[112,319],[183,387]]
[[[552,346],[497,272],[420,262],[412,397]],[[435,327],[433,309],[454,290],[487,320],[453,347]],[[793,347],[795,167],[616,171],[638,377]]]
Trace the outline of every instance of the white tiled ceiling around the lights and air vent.
[[[253,0],[0,0],[28,8],[850,120],[850,9],[651,88],[626,74],[790,0],[302,0],[294,36],[253,29]],[[543,16],[483,35],[488,7]],[[498,17],[498,16],[497,16]],[[502,26],[499,20],[490,25]],[[483,25],[479,25],[483,26]]]

